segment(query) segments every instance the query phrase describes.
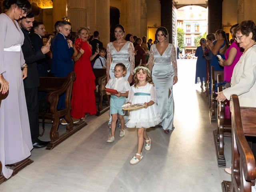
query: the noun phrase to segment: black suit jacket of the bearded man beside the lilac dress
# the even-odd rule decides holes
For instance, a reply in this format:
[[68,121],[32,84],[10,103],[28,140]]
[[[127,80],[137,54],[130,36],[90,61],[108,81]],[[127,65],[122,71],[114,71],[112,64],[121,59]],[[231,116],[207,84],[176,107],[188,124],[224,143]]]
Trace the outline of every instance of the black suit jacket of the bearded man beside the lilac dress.
[[28,32],[23,29],[21,30],[24,33],[24,44],[21,48],[25,62],[28,65],[28,77],[24,79],[24,88],[35,88],[39,86],[39,76],[36,62],[45,58],[45,55],[41,50],[36,52],[33,50]]

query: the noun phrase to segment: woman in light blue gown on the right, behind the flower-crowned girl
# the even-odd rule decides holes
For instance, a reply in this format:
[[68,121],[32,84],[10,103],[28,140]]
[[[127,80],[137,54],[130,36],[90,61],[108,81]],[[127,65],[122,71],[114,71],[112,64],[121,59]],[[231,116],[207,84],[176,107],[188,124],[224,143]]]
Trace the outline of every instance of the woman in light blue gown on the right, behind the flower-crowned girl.
[[156,30],[158,44],[150,48],[148,68],[152,70],[152,80],[156,86],[157,105],[163,120],[159,125],[169,134],[173,127],[174,101],[172,86],[178,81],[176,48],[166,42],[168,32],[165,27]]

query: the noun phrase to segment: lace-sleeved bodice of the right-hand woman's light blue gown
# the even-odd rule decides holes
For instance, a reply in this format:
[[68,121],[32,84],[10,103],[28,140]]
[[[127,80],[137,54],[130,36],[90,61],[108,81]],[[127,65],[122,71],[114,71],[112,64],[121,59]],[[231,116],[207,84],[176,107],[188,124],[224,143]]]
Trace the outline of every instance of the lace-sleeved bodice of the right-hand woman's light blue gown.
[[156,44],[150,48],[150,57],[148,59],[148,66],[153,66],[154,63],[171,64],[174,70],[174,75],[177,76],[177,59],[176,49],[173,44],[169,44],[162,55],[158,52]]

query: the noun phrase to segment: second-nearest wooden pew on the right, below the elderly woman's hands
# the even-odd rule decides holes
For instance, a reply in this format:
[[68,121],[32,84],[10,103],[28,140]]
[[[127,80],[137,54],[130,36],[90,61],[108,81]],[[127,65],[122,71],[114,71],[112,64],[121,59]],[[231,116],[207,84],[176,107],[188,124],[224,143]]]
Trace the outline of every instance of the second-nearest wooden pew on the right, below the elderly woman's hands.
[[[221,75],[218,74],[218,83],[222,82]],[[222,91],[222,85],[218,86],[218,92]],[[218,129],[213,131],[214,145],[216,149],[217,162],[219,167],[226,167],[224,157],[224,136],[231,137],[231,119],[225,119],[225,101],[218,102]]]

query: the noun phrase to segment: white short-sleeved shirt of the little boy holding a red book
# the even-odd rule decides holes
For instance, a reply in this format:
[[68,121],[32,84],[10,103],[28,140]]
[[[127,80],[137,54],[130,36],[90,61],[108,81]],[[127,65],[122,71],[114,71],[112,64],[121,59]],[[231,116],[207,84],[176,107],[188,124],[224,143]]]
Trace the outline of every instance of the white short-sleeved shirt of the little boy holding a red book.
[[130,90],[130,84],[124,77],[114,77],[108,81],[106,88],[115,89],[118,92],[125,93]]

